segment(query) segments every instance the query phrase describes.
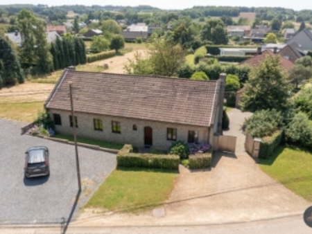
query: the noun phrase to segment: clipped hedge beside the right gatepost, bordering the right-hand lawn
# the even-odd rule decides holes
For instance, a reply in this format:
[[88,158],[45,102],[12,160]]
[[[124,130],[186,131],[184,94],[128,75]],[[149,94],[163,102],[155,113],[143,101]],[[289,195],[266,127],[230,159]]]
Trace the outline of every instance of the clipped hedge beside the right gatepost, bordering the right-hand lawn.
[[262,139],[260,143],[259,158],[268,159],[269,156],[277,149],[283,138],[284,130],[275,132],[272,136]]

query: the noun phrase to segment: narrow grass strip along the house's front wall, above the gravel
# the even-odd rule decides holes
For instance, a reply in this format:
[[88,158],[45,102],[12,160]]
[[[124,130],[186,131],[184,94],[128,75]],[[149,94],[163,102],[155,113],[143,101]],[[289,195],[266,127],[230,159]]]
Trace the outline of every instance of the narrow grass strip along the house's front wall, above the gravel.
[[[66,139],[68,141],[73,141],[73,136],[55,134],[53,137],[60,138],[60,139]],[[121,150],[121,148],[123,147],[123,144],[121,144],[121,143],[112,143],[112,142],[107,142],[107,141],[94,140],[94,139],[84,138],[84,137],[80,137],[80,136],[77,136],[77,142],[78,143],[85,143],[85,144],[89,144],[89,145],[99,145],[100,147],[113,149],[113,150]]]

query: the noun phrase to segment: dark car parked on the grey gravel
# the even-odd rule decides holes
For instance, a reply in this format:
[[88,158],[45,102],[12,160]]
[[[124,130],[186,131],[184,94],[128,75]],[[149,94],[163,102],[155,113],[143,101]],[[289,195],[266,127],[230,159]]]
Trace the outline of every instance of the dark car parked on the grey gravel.
[[26,150],[25,177],[40,177],[50,174],[49,150],[45,146],[34,146]]

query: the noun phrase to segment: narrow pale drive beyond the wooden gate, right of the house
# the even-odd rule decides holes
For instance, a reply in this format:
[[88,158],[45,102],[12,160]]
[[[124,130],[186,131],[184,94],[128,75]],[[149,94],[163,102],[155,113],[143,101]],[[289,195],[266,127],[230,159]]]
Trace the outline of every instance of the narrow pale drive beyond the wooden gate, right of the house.
[[245,118],[252,116],[252,113],[242,112],[240,109],[234,108],[227,112],[227,116],[229,116],[229,129],[223,131],[223,135],[236,136],[236,155],[248,155],[245,151],[245,135],[241,127],[245,122]]

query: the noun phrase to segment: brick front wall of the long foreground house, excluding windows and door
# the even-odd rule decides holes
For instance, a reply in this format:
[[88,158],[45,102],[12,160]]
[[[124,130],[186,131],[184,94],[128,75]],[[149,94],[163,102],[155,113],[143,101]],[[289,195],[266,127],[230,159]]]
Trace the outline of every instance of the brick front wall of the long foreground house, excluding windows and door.
[[[57,132],[67,135],[73,134],[69,123],[69,115],[71,115],[70,111],[49,109],[49,114],[51,115],[51,118],[53,118],[53,114],[60,114],[61,116],[62,125],[55,125]],[[171,143],[173,143],[173,141],[167,140],[167,127],[177,129],[177,140],[187,142],[189,131],[198,131],[198,141],[205,143],[209,141],[208,127],[179,125],[113,116],[100,116],[80,112],[76,112],[75,116],[77,116],[78,119],[78,128],[76,128],[77,136],[95,138],[103,141],[130,143],[137,147],[142,147],[144,146],[144,127],[151,127],[153,129],[153,147],[157,149],[168,150]],[[103,121],[103,131],[94,130],[94,118]],[[112,121],[120,122],[121,134],[112,132]],[[132,129],[133,125],[137,125],[137,131]]]

